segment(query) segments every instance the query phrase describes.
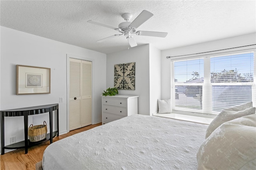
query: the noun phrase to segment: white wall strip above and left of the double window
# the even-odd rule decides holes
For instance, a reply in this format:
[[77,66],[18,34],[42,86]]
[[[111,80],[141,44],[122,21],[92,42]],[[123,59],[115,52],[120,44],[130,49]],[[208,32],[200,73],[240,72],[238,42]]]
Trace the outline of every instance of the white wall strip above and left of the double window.
[[[256,33],[161,51],[162,99],[170,98],[170,93],[171,93],[170,92],[170,89],[171,89],[170,88],[170,77],[171,77],[170,59],[166,59],[166,56],[194,54],[194,53],[214,51],[219,49],[227,49],[232,47],[240,47],[240,46],[252,45],[252,44],[256,44]],[[245,47],[245,48],[250,48],[250,47]]]

